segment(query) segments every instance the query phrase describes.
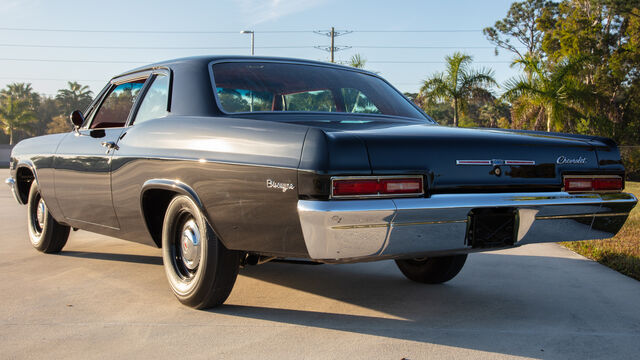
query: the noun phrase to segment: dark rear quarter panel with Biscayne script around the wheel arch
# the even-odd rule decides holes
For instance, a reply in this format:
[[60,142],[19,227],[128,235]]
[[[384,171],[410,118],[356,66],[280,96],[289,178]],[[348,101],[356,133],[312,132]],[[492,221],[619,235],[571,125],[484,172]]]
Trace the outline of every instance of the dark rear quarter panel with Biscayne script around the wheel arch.
[[306,127],[259,120],[169,117],[131,127],[112,158],[113,201],[123,237],[152,244],[140,209],[142,185],[175,179],[201,199],[230,249],[306,256],[297,187]]

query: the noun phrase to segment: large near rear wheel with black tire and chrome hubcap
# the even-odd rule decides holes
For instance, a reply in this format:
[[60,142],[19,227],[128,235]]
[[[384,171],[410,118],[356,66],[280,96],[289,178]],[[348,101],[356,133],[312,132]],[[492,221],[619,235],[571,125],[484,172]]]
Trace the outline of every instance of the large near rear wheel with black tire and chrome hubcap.
[[231,293],[240,267],[240,252],[228,250],[196,203],[179,195],[171,200],[164,217],[162,260],[178,300],[206,309],[222,304]]

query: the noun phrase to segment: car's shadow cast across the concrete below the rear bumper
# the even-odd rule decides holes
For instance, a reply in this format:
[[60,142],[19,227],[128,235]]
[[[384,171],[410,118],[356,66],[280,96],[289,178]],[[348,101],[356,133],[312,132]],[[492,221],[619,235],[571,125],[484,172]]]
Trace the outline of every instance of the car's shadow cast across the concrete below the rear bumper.
[[[408,281],[390,261],[265,264],[240,274],[296,291],[275,308],[243,298],[211,312],[528,357],[573,358],[575,347],[569,352],[566,345],[572,341],[587,343],[585,351],[615,351],[640,338],[633,302],[614,295],[616,281],[627,295],[640,295],[640,286],[582,259],[474,254],[457,278],[441,285]],[[554,352],[544,353],[546,347]]]

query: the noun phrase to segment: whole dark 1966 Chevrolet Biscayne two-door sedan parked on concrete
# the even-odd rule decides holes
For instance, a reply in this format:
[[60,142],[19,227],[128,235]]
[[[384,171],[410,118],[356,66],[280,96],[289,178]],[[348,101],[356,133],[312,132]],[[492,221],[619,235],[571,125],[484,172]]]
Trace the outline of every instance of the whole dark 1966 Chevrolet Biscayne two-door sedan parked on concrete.
[[273,259],[394,259],[442,283],[470,252],[611,237],[636,204],[610,139],[438,126],[376,74],[320,62],[157,63],[71,121],[13,149],[33,246],[80,228],[161,247],[196,308]]

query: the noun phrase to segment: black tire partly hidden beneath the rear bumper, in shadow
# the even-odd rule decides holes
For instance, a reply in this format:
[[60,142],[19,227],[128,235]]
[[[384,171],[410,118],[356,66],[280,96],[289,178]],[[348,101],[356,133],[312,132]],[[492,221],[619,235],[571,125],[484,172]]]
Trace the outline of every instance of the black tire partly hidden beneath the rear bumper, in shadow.
[[396,260],[396,265],[409,280],[424,284],[442,284],[462,270],[467,254],[422,259]]

